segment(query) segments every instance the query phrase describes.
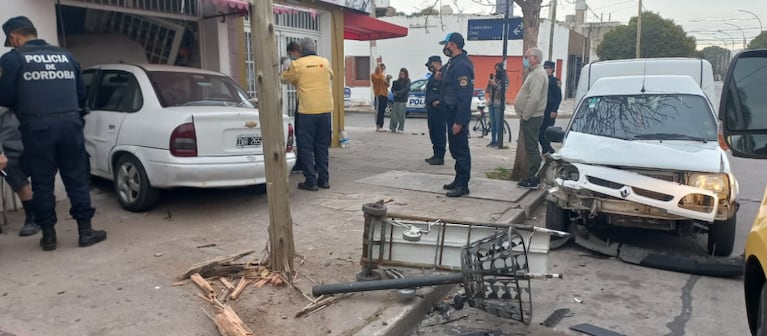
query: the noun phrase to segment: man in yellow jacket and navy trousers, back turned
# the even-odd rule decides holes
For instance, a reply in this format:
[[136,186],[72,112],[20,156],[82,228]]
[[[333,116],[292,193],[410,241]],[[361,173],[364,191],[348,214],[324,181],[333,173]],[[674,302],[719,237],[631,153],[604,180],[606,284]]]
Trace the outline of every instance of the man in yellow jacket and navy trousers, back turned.
[[298,184],[298,189],[317,191],[318,188],[330,188],[328,147],[332,132],[333,69],[326,58],[317,56],[314,40],[305,37],[299,44],[301,57],[291,62],[280,78],[296,86],[298,101],[301,102],[298,106],[301,118],[298,156],[306,179]]

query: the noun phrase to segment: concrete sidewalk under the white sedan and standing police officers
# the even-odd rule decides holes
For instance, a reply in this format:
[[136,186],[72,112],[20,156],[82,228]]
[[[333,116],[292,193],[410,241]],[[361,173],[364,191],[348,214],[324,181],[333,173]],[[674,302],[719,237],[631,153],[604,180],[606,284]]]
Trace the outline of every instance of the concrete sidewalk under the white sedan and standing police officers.
[[[347,117],[349,148],[331,149],[330,190],[296,189],[302,176],[290,176],[290,206],[298,282],[309,293],[315,283],[353,281],[362,253],[361,206],[392,200],[390,211],[483,222],[521,222],[541,192],[518,196],[492,193],[484,172],[512,166],[514,147],[485,147],[472,138],[472,182],[477,196],[449,199],[436,191],[401,184],[386,186],[385,174],[424,174],[439,185],[453,178],[452,159],[430,166],[425,121],[408,120],[407,134],[377,133],[369,116]],[[375,183],[363,183],[361,180]],[[367,179],[367,180],[366,180]],[[478,189],[477,189],[478,188]],[[413,190],[417,189],[417,190]],[[8,234],[0,235],[0,334],[16,335],[216,335],[200,309],[194,285],[170,286],[190,265],[233,252],[267,246],[266,195],[249,189],[179,189],[163,192],[161,204],[147,213],[130,213],[117,203],[111,183],[97,181],[92,191],[98,212],[94,225],[109,239],[76,247],[74,222],[60,202],[59,248],[39,250],[39,236],[16,236],[23,213],[10,213]],[[211,247],[201,247],[210,246]],[[259,252],[258,257],[262,256]],[[415,270],[411,274],[429,273]],[[359,293],[305,318],[293,315],[306,299],[289,288],[248,287],[234,302],[243,320],[259,335],[405,335],[448,288],[424,290],[409,304],[393,291]],[[420,292],[420,291],[419,291]],[[429,294],[431,293],[431,294]]]

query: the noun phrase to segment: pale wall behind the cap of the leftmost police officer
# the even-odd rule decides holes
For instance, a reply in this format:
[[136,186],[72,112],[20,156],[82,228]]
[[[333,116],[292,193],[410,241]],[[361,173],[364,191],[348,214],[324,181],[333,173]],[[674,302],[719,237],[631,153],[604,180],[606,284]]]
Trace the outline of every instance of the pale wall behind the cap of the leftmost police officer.
[[[56,36],[56,2],[51,0],[2,0],[0,1],[0,24],[15,16],[26,16],[37,28],[40,38],[58,45]],[[5,34],[0,31],[0,54],[10,51],[3,46]]]

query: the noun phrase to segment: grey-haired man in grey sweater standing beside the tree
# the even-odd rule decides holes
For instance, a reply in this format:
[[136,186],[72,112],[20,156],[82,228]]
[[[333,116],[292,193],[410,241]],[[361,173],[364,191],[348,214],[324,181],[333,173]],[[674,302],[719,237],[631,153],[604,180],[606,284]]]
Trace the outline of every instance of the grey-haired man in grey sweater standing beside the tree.
[[525,52],[523,65],[529,69],[525,82],[517,94],[514,110],[520,116],[520,127],[527,153],[527,178],[517,185],[522,188],[538,189],[541,181],[536,174],[541,167],[541,155],[538,151],[538,132],[543,123],[543,113],[548,99],[549,78],[543,70],[541,62],[543,52],[538,48],[530,48]]

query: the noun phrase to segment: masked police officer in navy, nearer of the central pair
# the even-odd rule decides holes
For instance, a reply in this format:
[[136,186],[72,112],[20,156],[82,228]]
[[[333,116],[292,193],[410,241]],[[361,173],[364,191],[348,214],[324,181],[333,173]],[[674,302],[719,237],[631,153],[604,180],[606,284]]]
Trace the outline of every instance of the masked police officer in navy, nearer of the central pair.
[[455,179],[443,186],[449,190],[447,197],[461,197],[469,194],[471,176],[471,151],[469,150],[469,122],[471,121],[471,99],[474,95],[474,63],[463,50],[465,41],[459,33],[447,34],[442,52],[450,57],[443,68],[442,98],[447,126],[447,141],[450,154],[455,159]]

